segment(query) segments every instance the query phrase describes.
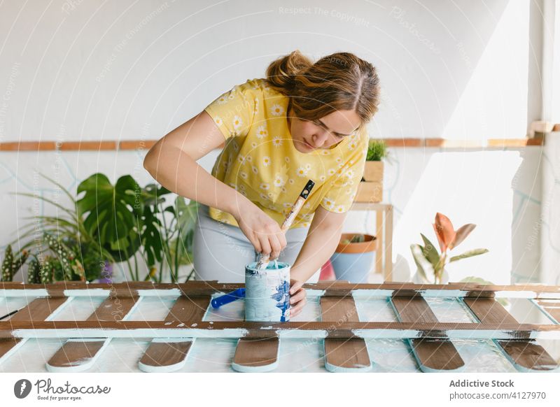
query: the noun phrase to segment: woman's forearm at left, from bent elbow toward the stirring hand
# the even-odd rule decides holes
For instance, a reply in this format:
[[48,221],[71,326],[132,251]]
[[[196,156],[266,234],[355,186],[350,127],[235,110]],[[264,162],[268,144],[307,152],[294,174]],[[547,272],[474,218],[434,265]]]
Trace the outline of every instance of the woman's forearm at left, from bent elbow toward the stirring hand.
[[241,208],[251,203],[202,168],[186,152],[175,146],[151,151],[144,167],[162,186],[182,197],[231,213],[238,218]]

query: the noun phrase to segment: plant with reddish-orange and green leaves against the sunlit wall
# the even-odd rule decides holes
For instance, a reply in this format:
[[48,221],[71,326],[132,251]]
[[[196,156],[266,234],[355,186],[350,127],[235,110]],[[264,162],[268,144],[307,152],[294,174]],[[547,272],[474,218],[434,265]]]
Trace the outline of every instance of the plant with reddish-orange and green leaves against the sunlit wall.
[[435,215],[433,229],[435,231],[435,236],[437,236],[437,242],[440,245],[440,252],[437,252],[435,245],[433,245],[426,236],[420,234],[424,245],[410,245],[412,257],[414,257],[414,262],[416,262],[417,266],[416,274],[414,274],[412,282],[419,284],[447,283],[449,281],[449,274],[445,269],[447,264],[488,252],[487,249],[474,249],[468,250],[458,256],[449,256],[449,251],[453,250],[459,243],[464,241],[475,227],[475,224],[468,223],[455,230],[449,217],[438,212]]

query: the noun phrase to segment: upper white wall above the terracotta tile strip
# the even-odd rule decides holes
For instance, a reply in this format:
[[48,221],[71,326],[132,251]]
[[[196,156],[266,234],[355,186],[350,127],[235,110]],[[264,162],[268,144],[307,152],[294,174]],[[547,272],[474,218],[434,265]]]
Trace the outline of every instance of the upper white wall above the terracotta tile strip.
[[372,136],[525,135],[528,0],[298,4],[4,2],[0,140],[159,137],[295,48],[378,67]]

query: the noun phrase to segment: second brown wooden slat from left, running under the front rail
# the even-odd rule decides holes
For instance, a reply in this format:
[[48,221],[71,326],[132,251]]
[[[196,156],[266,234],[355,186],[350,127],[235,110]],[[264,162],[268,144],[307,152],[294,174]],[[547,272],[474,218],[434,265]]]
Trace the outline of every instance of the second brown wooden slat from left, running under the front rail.
[[[86,321],[121,321],[137,304],[139,297],[108,297]],[[101,352],[111,342],[107,339],[70,339],[46,363],[51,372],[85,371],[90,369]]]

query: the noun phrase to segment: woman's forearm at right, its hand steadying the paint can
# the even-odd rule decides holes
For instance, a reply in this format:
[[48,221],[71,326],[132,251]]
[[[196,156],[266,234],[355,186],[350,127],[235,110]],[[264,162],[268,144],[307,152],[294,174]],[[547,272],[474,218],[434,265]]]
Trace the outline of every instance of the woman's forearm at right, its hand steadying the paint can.
[[300,254],[291,267],[291,278],[305,282],[327,262],[335,252],[342,234],[342,224],[321,222],[316,227],[311,223]]

